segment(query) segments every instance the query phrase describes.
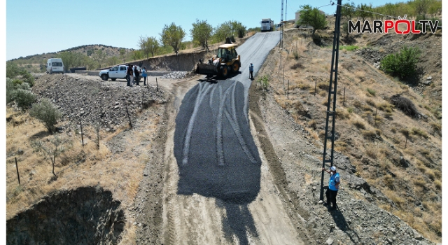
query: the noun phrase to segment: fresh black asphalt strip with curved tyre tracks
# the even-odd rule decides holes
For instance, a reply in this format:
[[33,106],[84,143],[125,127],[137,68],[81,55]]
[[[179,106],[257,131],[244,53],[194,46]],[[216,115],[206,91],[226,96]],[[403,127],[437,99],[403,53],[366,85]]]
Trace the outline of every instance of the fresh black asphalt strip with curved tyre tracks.
[[203,81],[187,92],[176,117],[174,156],[178,194],[235,204],[255,200],[261,160],[244,113],[243,84]]

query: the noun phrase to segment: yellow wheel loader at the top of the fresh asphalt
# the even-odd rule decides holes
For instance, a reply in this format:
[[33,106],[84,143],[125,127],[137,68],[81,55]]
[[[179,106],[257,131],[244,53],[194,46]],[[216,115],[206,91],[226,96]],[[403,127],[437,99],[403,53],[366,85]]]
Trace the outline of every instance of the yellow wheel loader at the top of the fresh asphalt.
[[199,60],[196,66],[196,73],[207,76],[221,76],[226,78],[229,73],[237,73],[241,67],[241,59],[237,54],[237,45],[226,43],[218,47],[216,57],[209,59],[207,63],[203,59]]

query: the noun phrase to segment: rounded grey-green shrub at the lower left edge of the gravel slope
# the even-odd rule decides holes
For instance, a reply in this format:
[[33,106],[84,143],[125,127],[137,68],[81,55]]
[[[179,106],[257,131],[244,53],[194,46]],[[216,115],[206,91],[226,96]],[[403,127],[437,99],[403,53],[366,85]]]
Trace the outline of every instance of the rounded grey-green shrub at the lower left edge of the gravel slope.
[[29,115],[39,120],[47,128],[48,132],[55,131],[57,120],[61,118],[61,113],[49,99],[42,99],[38,104],[34,104],[29,110]]

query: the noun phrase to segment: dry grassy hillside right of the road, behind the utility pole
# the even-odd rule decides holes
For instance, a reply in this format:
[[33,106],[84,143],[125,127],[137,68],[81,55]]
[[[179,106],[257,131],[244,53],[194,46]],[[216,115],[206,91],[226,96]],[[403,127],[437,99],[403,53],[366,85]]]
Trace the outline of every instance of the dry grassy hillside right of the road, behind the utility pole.
[[[274,50],[258,74],[258,79],[267,76],[268,93],[304,127],[318,148],[323,148],[325,134],[332,48],[328,44],[334,29],[330,25],[316,32],[327,45],[316,45],[297,29],[286,31],[285,49]],[[341,41],[335,151],[349,159],[355,167],[353,174],[367,181],[362,191],[347,191],[440,242],[441,33],[358,34]],[[403,45],[421,48],[420,73],[411,80],[388,76],[377,68],[382,57]],[[421,116],[408,116],[393,106],[395,94],[409,99]]]

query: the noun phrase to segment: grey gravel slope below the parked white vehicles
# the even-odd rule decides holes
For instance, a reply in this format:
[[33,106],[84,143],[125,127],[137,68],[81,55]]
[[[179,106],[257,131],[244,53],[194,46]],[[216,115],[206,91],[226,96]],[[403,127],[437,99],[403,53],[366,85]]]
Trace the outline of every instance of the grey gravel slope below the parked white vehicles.
[[[62,121],[78,125],[100,122],[113,131],[114,127],[128,123],[142,108],[153,103],[165,103],[166,93],[153,86],[108,85],[94,80],[69,76],[44,75],[36,80],[32,92],[50,99],[62,113]],[[142,104],[143,100],[143,104]]]

